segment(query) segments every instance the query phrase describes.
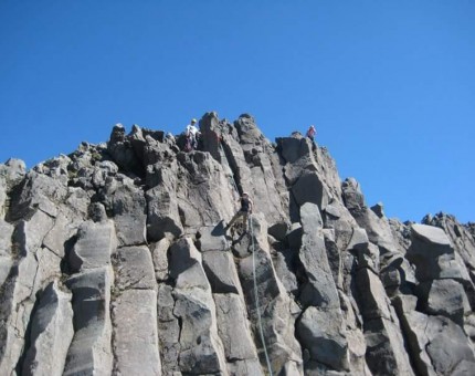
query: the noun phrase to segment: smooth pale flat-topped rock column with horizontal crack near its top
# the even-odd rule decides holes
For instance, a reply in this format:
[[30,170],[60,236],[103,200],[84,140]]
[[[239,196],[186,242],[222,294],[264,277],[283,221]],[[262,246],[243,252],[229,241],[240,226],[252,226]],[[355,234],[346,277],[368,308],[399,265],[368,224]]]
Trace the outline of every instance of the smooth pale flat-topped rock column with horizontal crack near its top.
[[161,375],[157,282],[149,249],[120,248],[114,255],[114,373]]

